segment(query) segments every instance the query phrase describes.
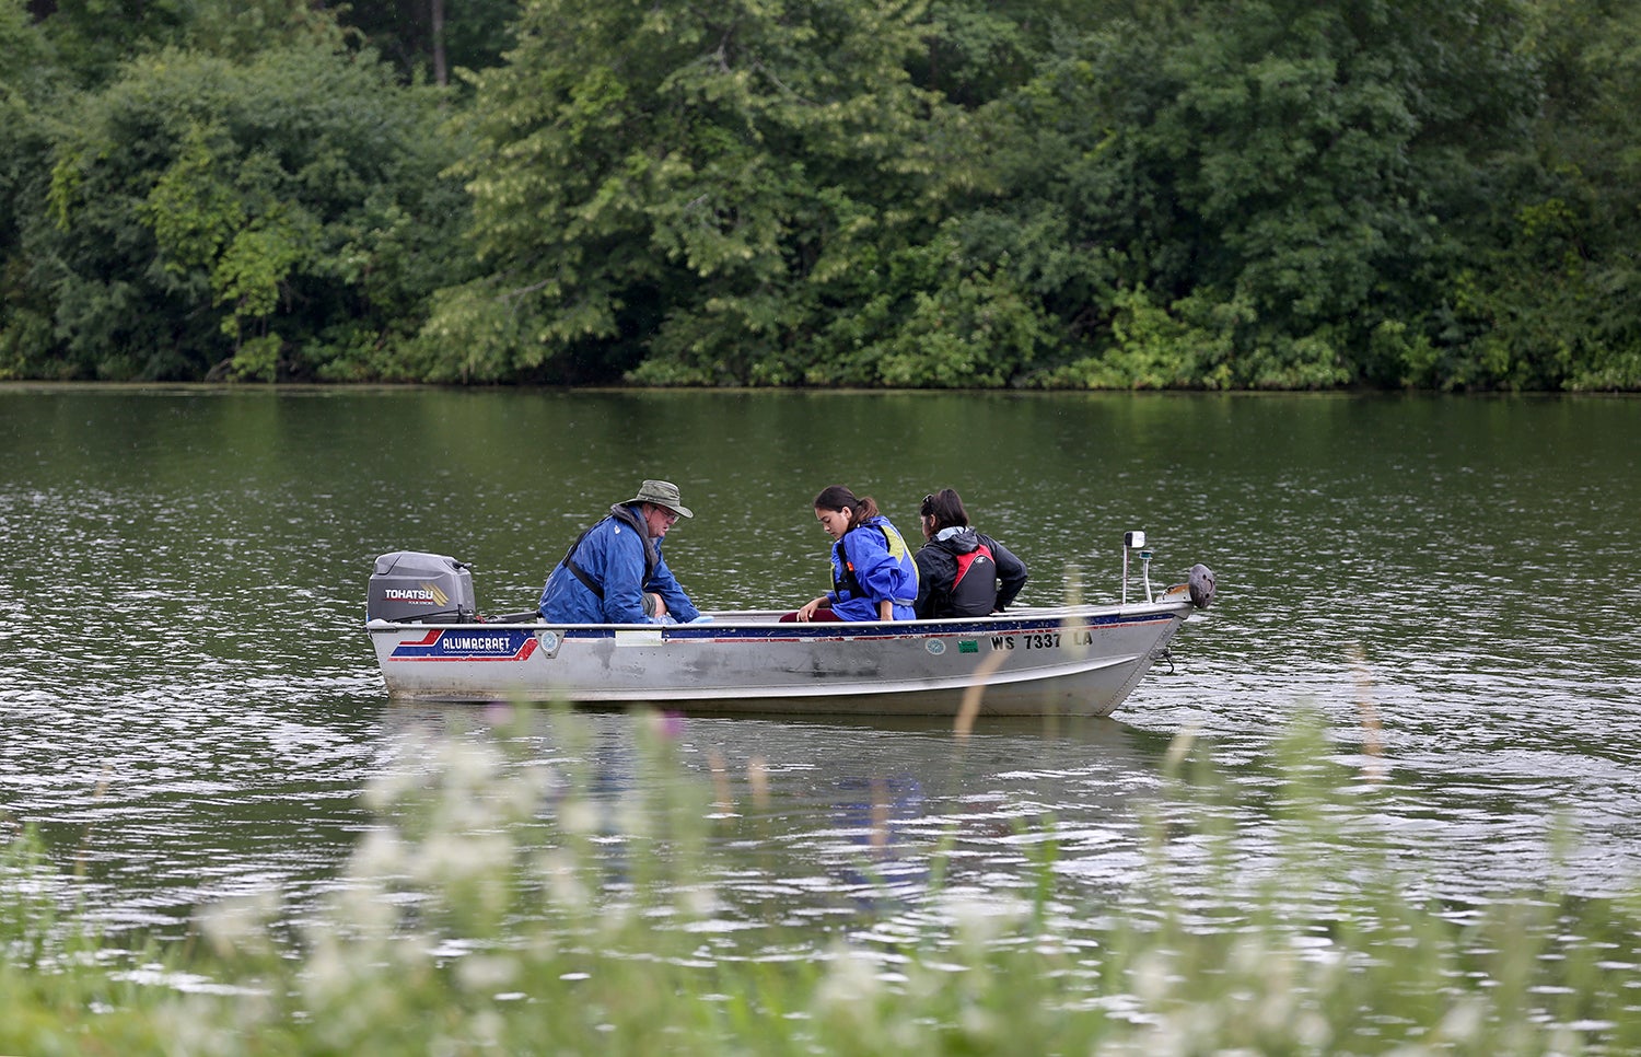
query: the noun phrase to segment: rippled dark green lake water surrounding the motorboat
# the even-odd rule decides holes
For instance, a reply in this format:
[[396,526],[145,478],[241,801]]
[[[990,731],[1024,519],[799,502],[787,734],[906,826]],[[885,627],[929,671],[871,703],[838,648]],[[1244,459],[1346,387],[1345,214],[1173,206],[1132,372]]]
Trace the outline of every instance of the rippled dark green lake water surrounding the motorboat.
[[[1308,711],[1346,785],[1382,775],[1370,816],[1441,898],[1641,873],[1636,399],[5,387],[0,837],[38,824],[92,913],[166,934],[269,888],[300,921],[379,824],[361,789],[430,729],[619,798],[638,719],[586,714],[586,740],[391,702],[364,588],[376,555],[432,550],[474,565],[482,611],[532,607],[647,476],[696,510],[666,553],[702,607],[824,589],[832,483],[907,532],[955,486],[1029,563],[1026,604],[1114,597],[1131,528],[1159,586],[1219,578],[1106,721],[670,721],[745,811],[766,775],[763,839],[719,852],[729,917],[819,937],[889,886],[916,921],[953,834],[948,888],[1008,899],[1044,819],[1057,870],[1119,890],[1182,732],[1246,789],[1221,811],[1257,863]],[[894,839],[863,872],[873,826]]]

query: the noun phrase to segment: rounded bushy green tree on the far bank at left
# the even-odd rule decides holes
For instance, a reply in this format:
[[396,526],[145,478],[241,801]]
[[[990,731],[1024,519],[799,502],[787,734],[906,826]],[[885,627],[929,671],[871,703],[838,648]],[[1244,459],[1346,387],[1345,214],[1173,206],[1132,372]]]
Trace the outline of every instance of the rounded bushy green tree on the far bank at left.
[[368,53],[161,51],[62,117],[21,246],[54,313],[34,373],[391,374],[427,294],[459,274],[438,97]]

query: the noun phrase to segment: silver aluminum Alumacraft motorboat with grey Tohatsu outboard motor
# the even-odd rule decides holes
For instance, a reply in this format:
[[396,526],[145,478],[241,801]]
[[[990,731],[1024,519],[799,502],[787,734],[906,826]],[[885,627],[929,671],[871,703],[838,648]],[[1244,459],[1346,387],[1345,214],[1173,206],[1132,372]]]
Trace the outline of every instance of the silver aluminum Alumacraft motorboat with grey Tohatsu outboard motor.
[[[1114,606],[1027,607],[991,617],[779,624],[781,611],[706,624],[484,620],[466,565],[395,551],[376,560],[366,627],[387,691],[420,701],[686,704],[715,712],[957,714],[965,694],[996,716],[1106,716],[1145,675],[1214,576]],[[1150,551],[1140,551],[1149,561]],[[970,696],[970,707],[975,706]]]

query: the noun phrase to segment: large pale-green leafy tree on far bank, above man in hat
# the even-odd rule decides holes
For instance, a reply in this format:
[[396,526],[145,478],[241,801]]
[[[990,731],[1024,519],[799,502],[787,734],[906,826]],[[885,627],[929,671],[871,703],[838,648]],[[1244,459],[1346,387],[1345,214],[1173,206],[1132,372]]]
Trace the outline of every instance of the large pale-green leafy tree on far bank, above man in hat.
[[430,373],[827,381],[811,335],[967,167],[906,71],[926,28],[916,3],[528,3],[474,77],[487,276],[440,295]]

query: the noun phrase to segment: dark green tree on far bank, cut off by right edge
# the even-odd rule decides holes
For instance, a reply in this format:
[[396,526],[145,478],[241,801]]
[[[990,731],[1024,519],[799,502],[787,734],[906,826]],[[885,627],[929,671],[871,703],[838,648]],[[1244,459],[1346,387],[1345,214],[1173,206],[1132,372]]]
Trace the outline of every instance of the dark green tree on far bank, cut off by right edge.
[[1529,135],[1493,158],[1452,269],[1459,335],[1413,364],[1431,386],[1641,389],[1641,10],[1541,0]]

